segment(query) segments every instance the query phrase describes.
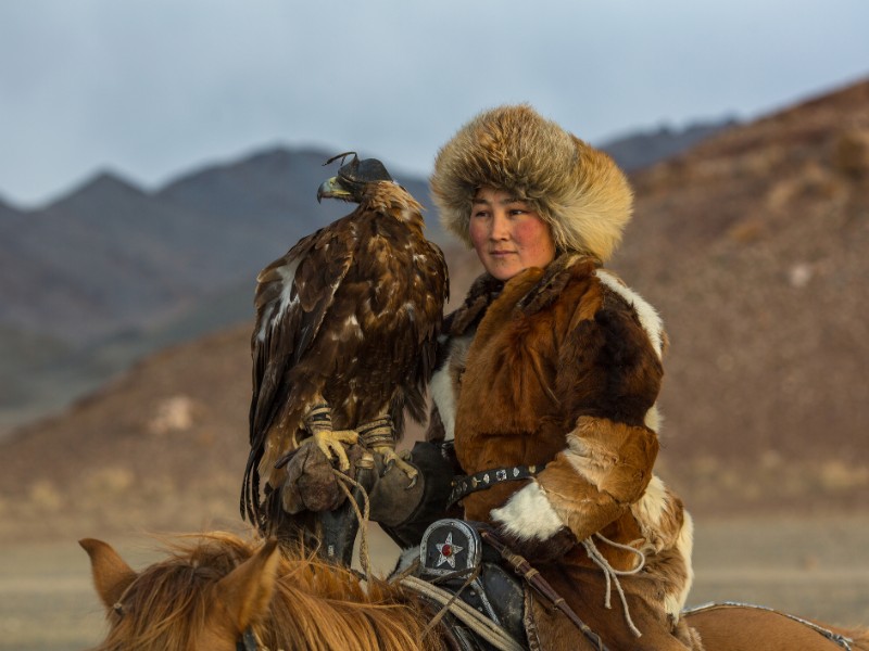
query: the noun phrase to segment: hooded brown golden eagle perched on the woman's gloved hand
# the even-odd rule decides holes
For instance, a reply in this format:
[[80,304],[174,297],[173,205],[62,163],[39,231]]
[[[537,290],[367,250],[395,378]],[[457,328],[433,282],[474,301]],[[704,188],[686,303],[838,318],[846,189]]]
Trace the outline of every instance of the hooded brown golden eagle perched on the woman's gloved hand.
[[404,411],[426,417],[446,264],[424,235],[421,206],[379,161],[349,152],[326,164],[351,154],[317,201],[354,202],[356,209],[300,240],[256,279],[241,508],[269,533],[276,524],[268,520],[280,515],[281,458],[311,438],[307,445],[347,470],[343,443],[367,431],[360,443],[403,464],[394,445]]

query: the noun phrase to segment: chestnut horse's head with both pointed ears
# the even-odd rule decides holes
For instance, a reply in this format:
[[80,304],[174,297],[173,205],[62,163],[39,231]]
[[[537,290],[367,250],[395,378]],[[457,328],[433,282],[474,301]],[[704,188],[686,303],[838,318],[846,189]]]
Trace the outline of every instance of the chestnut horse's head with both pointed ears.
[[267,615],[280,556],[274,540],[201,546],[137,573],[109,544],[79,544],[110,623],[101,650],[235,651]]

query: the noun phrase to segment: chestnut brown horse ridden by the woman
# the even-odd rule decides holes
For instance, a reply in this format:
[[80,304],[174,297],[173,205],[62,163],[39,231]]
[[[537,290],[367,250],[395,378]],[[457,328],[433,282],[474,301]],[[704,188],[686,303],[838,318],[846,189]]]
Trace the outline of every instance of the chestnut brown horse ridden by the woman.
[[[431,608],[407,589],[378,579],[363,589],[351,571],[280,553],[274,541],[189,536],[138,573],[106,542],[80,544],[110,623],[97,651],[235,651],[245,636],[261,651],[449,648],[428,626]],[[767,610],[711,608],[687,620],[706,651],[869,650],[866,630],[834,629],[847,647]]]

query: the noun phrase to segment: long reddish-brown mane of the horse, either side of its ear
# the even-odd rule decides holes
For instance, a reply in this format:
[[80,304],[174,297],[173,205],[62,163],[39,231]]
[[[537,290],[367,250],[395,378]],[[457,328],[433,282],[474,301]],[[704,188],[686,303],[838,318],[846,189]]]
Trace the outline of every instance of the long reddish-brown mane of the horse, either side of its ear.
[[[143,570],[110,613],[112,630],[96,651],[190,648],[205,622],[210,586],[251,558],[261,541],[212,532],[164,544],[168,558]],[[268,649],[440,648],[413,595],[379,578],[363,587],[349,570],[305,551],[282,552],[266,621],[254,631]]]

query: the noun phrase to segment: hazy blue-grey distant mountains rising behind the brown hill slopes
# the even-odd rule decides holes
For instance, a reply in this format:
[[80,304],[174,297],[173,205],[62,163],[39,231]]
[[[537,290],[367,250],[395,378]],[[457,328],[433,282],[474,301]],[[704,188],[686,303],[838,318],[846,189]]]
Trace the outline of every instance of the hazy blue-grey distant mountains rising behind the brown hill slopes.
[[[639,133],[614,146],[630,167],[638,155],[650,159],[644,150],[657,159],[697,137]],[[338,167],[324,167],[329,157],[272,148],[155,192],[106,170],[39,210],[0,202],[0,434],[93,391],[142,355],[249,318],[256,272],[349,212],[316,203]],[[426,180],[388,167],[426,206],[429,239],[455,246],[434,218]]]

